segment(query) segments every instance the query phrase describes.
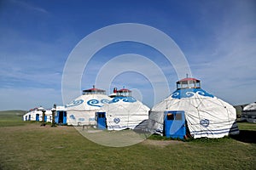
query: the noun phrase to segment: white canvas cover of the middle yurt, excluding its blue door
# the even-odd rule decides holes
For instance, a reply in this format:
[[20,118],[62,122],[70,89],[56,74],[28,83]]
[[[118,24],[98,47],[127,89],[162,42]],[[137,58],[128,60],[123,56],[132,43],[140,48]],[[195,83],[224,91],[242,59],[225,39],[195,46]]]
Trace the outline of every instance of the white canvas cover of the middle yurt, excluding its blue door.
[[148,120],[149,108],[131,96],[119,96],[103,105],[100,111],[106,112],[108,130],[122,130],[134,129]]

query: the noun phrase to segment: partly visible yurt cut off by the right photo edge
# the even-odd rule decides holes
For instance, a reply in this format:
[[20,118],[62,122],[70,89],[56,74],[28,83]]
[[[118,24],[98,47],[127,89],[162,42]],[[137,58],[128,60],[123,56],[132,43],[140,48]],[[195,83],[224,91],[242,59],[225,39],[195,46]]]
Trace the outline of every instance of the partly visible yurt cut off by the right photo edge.
[[241,111],[241,121],[256,122],[256,102],[243,108]]

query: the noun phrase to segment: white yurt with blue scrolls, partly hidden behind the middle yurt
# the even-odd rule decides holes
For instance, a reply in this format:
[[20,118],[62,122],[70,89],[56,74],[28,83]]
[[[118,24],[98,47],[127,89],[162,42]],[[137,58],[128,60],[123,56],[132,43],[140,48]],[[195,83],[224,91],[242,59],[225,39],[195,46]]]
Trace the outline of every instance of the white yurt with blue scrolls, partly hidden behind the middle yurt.
[[111,99],[106,91],[95,88],[83,90],[83,94],[65,105],[67,109],[67,124],[73,126],[96,125],[96,111]]

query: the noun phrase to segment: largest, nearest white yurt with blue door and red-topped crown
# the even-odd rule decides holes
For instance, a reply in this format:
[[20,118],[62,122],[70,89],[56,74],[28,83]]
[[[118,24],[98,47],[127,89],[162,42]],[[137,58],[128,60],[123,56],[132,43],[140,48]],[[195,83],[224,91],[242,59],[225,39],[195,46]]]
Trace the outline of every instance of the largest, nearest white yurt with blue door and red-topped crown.
[[151,133],[180,139],[222,138],[239,133],[232,105],[208,94],[195,78],[176,83],[176,91],[149,111]]

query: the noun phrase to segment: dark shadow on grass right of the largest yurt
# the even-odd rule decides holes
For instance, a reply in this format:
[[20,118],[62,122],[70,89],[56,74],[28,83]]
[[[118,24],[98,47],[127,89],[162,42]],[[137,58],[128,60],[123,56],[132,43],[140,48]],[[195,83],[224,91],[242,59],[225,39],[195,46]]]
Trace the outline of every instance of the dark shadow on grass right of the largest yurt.
[[244,143],[256,144],[256,131],[253,130],[240,130],[238,135],[230,135],[230,138],[236,139]]

